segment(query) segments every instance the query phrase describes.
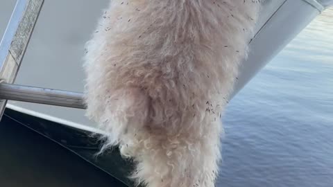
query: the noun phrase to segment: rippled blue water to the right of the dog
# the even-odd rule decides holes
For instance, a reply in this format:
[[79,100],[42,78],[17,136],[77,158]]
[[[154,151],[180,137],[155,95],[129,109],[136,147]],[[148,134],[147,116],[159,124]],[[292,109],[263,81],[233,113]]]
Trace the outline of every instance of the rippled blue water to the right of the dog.
[[218,186],[333,186],[333,9],[230,103]]

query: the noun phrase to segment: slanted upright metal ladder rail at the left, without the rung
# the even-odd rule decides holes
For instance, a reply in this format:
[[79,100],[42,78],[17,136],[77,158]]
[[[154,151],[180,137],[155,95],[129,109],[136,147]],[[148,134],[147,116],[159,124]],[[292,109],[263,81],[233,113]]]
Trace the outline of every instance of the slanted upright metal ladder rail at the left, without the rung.
[[[0,42],[0,80],[14,82],[44,0],[17,0]],[[0,100],[0,119],[7,100]]]

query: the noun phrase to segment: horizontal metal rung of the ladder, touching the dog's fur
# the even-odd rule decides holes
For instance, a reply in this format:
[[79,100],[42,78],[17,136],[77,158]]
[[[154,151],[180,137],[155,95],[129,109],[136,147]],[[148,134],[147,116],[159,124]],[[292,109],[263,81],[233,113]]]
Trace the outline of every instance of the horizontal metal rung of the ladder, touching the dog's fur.
[[17,84],[0,83],[0,99],[85,109],[82,93]]

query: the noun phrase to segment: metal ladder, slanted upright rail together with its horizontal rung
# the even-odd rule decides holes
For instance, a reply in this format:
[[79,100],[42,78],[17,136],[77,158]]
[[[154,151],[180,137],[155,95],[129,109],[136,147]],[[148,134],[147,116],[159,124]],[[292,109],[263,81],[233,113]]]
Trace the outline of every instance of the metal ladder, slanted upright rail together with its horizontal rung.
[[44,0],[17,0],[0,43],[0,118],[7,100],[85,109],[83,94],[12,84]]

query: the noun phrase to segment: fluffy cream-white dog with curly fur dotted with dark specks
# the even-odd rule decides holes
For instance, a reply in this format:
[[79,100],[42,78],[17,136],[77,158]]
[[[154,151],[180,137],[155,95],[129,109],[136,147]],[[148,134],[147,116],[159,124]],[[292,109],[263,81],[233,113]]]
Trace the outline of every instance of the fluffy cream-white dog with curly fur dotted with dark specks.
[[259,3],[112,0],[87,43],[87,115],[149,187],[212,187],[221,113]]

